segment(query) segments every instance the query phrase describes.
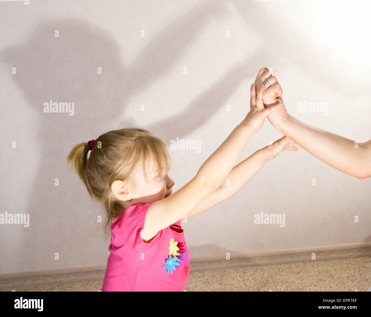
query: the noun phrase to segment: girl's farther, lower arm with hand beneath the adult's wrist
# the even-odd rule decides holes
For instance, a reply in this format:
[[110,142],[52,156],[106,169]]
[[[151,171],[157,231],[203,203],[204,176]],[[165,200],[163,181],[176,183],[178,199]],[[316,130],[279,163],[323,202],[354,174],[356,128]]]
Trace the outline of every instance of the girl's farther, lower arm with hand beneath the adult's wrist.
[[187,218],[197,216],[232,197],[255,176],[268,160],[272,160],[284,150],[297,151],[298,149],[295,147],[295,143],[289,140],[289,138],[283,137],[273,143],[273,148],[269,148],[268,146],[261,148],[234,166],[225,182],[201,202],[200,205],[188,213]]

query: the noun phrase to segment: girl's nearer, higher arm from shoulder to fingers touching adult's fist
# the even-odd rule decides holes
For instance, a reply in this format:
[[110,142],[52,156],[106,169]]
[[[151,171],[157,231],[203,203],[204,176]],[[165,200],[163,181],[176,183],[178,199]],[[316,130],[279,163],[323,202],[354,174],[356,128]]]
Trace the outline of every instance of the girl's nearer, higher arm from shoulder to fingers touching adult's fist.
[[264,85],[261,85],[257,94],[255,85],[251,85],[250,111],[244,120],[202,164],[190,182],[166,199],[151,204],[141,231],[142,239],[149,240],[158,231],[182,219],[219,188],[236,164],[251,135],[259,131],[269,113],[279,108],[279,106],[273,106],[272,110],[264,108],[263,91]]

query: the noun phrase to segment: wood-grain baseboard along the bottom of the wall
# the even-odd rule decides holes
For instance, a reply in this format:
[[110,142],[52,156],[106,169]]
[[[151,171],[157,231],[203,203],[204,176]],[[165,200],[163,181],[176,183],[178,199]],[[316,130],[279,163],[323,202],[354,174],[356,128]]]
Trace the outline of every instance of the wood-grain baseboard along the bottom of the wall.
[[[312,253],[316,259],[312,260]],[[272,264],[326,261],[371,256],[371,242],[313,246],[311,248],[283,249],[191,258],[190,272],[257,267]],[[49,269],[0,275],[0,290],[71,282],[103,280],[106,265]]]

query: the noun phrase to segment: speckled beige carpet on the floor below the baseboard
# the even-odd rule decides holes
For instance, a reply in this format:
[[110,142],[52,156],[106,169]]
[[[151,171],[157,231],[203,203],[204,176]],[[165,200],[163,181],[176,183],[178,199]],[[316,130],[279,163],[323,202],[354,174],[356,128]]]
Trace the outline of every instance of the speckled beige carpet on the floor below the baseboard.
[[[103,281],[16,288],[16,291],[99,291]],[[371,258],[301,262],[190,273],[186,291],[367,291]],[[12,290],[3,290],[12,291]]]

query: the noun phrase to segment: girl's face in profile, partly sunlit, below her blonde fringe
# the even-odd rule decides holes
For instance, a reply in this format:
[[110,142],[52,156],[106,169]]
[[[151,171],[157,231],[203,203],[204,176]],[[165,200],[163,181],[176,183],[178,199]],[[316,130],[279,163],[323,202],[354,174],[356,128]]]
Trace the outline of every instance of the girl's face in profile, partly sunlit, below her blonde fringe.
[[167,198],[173,191],[173,179],[166,173],[162,174],[161,171],[155,168],[155,164],[151,161],[147,171],[148,182],[145,181],[142,167],[137,169],[134,174],[135,188],[131,189],[133,202],[152,203],[161,199]]

